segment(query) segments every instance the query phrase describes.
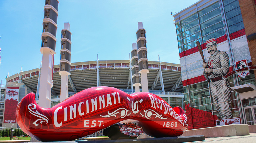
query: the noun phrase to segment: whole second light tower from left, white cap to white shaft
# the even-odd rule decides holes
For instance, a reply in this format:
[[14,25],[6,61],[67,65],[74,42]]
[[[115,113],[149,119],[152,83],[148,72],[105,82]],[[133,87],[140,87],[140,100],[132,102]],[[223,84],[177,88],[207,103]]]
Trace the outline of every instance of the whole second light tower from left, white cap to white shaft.
[[70,57],[71,57],[71,32],[69,23],[64,23],[64,29],[61,30],[61,49],[60,49],[60,102],[68,98],[68,77],[70,75]]

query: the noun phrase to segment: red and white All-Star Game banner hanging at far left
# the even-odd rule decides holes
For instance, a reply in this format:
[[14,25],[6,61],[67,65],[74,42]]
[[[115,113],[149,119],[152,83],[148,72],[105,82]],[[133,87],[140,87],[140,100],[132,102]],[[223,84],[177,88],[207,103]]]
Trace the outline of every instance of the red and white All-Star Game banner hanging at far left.
[[4,123],[16,123],[19,87],[6,87]]

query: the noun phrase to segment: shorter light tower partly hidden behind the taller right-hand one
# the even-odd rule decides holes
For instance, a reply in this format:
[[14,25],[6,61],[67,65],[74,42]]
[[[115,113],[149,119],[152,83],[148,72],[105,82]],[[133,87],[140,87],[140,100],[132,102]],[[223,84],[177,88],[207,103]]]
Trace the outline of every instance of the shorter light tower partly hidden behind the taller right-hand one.
[[135,92],[139,92],[139,86],[140,84],[140,74],[139,74],[139,66],[138,66],[138,56],[137,56],[137,45],[136,43],[133,43],[133,50],[131,51],[132,54],[132,80],[133,85],[135,88]]

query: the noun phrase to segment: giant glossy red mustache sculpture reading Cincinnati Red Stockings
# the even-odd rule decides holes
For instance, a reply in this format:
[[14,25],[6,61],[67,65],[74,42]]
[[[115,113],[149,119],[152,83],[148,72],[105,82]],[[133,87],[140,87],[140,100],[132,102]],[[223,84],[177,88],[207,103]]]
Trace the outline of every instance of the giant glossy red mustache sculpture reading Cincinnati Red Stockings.
[[107,128],[117,122],[133,122],[152,137],[183,134],[187,117],[180,107],[147,92],[131,95],[113,87],[85,89],[52,108],[42,108],[29,93],[18,104],[20,128],[40,141],[69,141]]

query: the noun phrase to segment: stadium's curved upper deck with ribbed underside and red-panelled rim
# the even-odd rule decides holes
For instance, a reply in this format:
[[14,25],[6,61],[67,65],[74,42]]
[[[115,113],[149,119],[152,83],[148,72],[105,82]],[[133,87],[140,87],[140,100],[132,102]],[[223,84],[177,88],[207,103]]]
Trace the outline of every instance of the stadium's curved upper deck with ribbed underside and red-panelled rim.
[[[129,62],[129,60],[98,61],[98,66],[97,61],[71,63],[68,92],[79,92],[90,87],[96,87],[97,82],[99,86],[131,90]],[[53,95],[60,95],[61,76],[59,75],[59,67],[59,65],[54,65]],[[162,80],[165,92],[183,92],[179,64],[149,61],[148,67],[149,90],[162,90]],[[6,78],[6,80],[8,82],[21,81],[36,94],[39,75],[40,68],[36,68],[17,73]]]

